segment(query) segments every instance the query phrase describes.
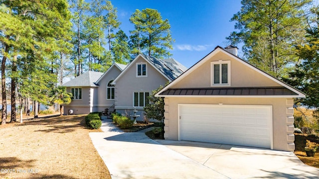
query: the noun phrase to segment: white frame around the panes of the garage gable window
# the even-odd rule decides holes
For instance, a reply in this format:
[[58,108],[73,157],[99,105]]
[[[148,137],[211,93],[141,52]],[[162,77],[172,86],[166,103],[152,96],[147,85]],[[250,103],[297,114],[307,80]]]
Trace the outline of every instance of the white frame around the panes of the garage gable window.
[[[219,84],[214,84],[214,65],[219,65]],[[227,84],[222,84],[222,70],[221,66],[222,64],[227,64]],[[230,87],[230,77],[231,77],[231,68],[230,68],[230,60],[219,60],[210,62],[210,77],[211,77],[211,87]]]

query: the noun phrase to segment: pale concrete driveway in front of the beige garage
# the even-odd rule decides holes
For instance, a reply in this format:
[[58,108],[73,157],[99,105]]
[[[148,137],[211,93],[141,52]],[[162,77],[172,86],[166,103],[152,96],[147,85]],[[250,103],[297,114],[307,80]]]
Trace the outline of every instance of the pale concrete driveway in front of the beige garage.
[[90,137],[112,179],[318,179],[293,153],[188,141],[152,140],[103,120]]

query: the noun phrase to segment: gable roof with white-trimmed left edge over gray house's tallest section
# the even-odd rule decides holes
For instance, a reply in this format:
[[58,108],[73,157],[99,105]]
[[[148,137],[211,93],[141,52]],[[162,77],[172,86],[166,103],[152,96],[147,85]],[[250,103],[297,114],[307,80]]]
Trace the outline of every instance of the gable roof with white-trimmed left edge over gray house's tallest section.
[[142,57],[147,61],[152,67],[154,67],[161,75],[163,75],[169,82],[175,80],[178,76],[184,73],[187,68],[177,62],[176,60],[169,59],[157,59],[140,53],[128,66],[123,70],[123,72],[113,81],[116,81],[126,73],[126,71],[135,63],[139,57]]

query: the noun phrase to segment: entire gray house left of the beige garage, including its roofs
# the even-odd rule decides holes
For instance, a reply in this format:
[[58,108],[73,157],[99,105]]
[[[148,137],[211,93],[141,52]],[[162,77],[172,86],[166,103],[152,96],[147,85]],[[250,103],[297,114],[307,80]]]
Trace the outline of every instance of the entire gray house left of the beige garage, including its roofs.
[[[87,72],[65,83],[75,98],[65,105],[64,114],[104,111],[111,106],[117,112],[132,114],[138,110],[143,120],[143,109],[149,103],[152,90],[173,81],[187,68],[174,59],[157,59],[139,54],[130,64],[114,63],[104,74]],[[85,83],[84,83],[85,82]],[[81,97],[78,97],[81,90]]]

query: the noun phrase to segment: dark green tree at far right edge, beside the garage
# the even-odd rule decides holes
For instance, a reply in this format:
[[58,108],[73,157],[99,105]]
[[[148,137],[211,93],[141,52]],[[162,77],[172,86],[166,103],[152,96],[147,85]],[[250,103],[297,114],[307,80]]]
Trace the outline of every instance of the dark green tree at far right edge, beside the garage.
[[307,42],[296,47],[296,54],[301,59],[297,68],[289,73],[285,82],[301,89],[306,98],[295,101],[319,112],[319,7],[311,10],[309,18],[310,27],[307,29]]

